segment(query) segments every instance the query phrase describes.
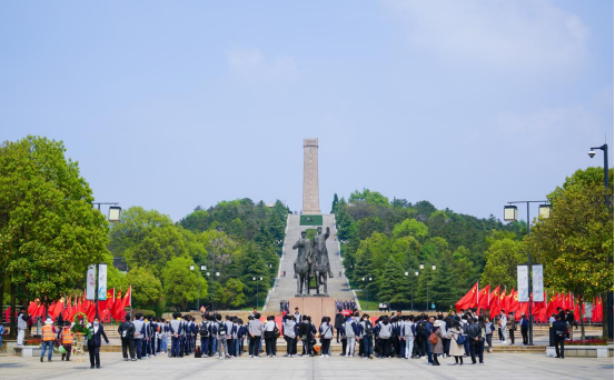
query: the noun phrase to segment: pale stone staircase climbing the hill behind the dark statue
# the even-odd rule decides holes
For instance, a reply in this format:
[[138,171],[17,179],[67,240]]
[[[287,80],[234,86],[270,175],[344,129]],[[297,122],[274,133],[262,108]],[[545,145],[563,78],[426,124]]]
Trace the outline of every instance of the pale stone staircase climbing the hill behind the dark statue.
[[[334,239],[337,233],[335,216],[323,216],[323,223],[324,229],[327,227],[331,229],[331,236],[327,240],[327,251],[329,252],[329,261],[335,278],[328,280],[329,296],[339,300],[354,300],[346,277],[344,273],[343,277],[339,277],[339,272],[343,272],[343,266],[339,258],[339,244],[337,240]],[[290,300],[297,293],[297,280],[292,278],[295,274],[294,263],[297,259],[297,251],[292,250],[292,246],[299,240],[301,231],[309,228],[314,227],[300,226],[300,216],[289,216],[288,232],[284,241],[284,260],[280,266],[280,272],[286,271],[287,277],[278,279],[277,287],[269,298],[267,310],[278,311],[281,300]]]

